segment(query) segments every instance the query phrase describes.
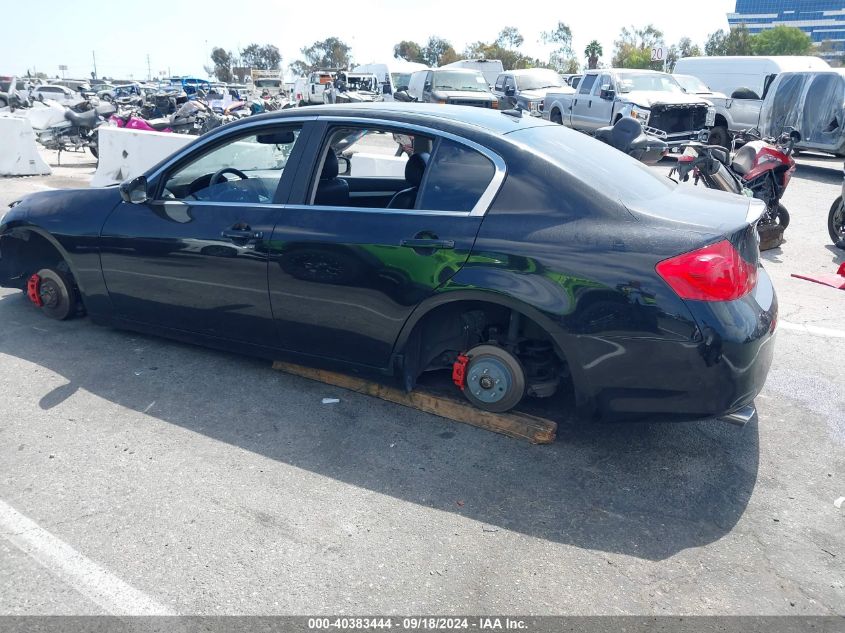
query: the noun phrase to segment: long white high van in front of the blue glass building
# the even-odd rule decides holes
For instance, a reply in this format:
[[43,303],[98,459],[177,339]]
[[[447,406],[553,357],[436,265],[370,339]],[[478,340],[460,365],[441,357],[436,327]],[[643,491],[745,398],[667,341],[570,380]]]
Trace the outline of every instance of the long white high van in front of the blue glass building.
[[[673,73],[698,77],[714,92],[730,97],[737,90],[751,90],[762,99],[766,88],[782,72],[829,70],[830,66],[819,57],[682,57],[675,64]],[[750,96],[750,95],[749,95]]]

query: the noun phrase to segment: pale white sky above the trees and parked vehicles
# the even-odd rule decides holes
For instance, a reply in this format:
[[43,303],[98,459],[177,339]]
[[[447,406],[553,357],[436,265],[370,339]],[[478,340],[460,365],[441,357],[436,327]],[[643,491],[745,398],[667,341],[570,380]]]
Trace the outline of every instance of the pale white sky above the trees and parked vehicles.
[[539,42],[540,33],[558,20],[572,29],[579,57],[590,40],[598,39],[603,61],[609,63],[623,26],[651,22],[663,30],[667,45],[684,36],[703,44],[709,33],[727,29],[726,13],[734,6],[734,0],[695,5],[684,0],[5,0],[0,5],[0,24],[6,27],[0,36],[0,75],[35,68],[55,76],[63,64],[68,77],[88,77],[93,50],[100,76],[146,78],[147,54],[153,75],[163,70],[204,76],[211,47],[234,50],[251,42],[275,44],[286,68],[303,46],[329,36],[352,46],[354,62],[381,62],[403,39],[424,43],[438,35],[461,52],[468,43],[492,41],[504,26],[520,30],[523,53],[546,58],[549,47]]

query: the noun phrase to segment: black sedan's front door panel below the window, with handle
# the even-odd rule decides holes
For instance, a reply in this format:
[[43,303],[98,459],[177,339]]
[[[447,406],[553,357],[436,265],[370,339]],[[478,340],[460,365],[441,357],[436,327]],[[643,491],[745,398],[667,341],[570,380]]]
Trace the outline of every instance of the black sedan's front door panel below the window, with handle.
[[122,203],[100,240],[116,312],[157,327],[271,344],[266,244],[278,212],[271,205]]

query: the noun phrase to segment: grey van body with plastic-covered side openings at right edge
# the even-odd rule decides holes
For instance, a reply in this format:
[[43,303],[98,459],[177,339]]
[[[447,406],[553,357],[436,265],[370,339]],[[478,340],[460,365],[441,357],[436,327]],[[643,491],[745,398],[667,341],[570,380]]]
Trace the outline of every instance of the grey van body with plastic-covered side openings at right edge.
[[781,73],[760,111],[760,131],[801,133],[795,149],[845,156],[845,70]]

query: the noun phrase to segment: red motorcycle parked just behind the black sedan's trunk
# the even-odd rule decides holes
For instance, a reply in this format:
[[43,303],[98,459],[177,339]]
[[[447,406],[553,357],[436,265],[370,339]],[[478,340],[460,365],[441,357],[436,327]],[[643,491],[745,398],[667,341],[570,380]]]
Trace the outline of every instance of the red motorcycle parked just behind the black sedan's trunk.
[[745,144],[735,152],[728,152],[721,145],[690,143],[670,177],[677,174],[679,180],[686,182],[691,175],[696,185],[702,182],[710,189],[762,200],[766,213],[758,225],[785,229],[789,225],[789,212],[780,201],[795,173],[792,154],[800,140],[799,132],[787,128],[778,139],[764,139],[757,130],[741,132],[734,137],[732,147],[738,141]]

